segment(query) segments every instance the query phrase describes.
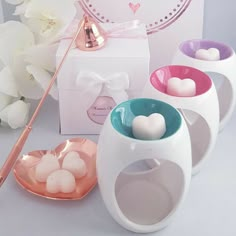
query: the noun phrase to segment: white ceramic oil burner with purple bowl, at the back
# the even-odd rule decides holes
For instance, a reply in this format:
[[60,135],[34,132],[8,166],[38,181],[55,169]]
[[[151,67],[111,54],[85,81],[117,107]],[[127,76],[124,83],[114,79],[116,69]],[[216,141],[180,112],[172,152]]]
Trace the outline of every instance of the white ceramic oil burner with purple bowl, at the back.
[[234,50],[219,42],[202,39],[189,40],[179,46],[173,64],[195,67],[210,75],[217,87],[221,131],[230,120],[236,101]]

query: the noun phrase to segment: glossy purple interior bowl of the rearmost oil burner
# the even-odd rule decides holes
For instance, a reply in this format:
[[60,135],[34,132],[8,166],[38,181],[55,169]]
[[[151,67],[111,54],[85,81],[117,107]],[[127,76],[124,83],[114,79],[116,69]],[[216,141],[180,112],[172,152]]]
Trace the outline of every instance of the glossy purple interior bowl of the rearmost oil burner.
[[[195,53],[199,49],[208,50],[209,48],[217,48],[220,51],[220,60],[225,60],[231,57],[234,53],[233,49],[229,46],[205,39],[194,39],[183,42],[179,46],[179,50],[186,56],[195,59]],[[198,60],[198,59],[197,59]]]

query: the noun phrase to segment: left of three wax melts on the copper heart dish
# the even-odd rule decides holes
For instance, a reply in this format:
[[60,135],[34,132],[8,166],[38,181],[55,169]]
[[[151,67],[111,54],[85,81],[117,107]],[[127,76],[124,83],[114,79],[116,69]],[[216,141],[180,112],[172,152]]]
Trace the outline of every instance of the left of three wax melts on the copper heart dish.
[[42,157],[39,164],[35,168],[35,179],[38,182],[45,183],[47,181],[48,176],[60,169],[60,164],[57,159],[52,154],[46,154]]

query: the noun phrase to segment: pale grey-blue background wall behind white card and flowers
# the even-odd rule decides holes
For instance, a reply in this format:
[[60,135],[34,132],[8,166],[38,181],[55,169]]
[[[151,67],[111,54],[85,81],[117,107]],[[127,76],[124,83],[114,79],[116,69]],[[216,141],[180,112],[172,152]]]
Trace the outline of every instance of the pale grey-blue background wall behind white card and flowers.
[[[0,1],[3,5],[5,20],[13,19],[12,7],[6,4],[5,0]],[[222,41],[236,49],[235,0],[205,0],[204,38]]]

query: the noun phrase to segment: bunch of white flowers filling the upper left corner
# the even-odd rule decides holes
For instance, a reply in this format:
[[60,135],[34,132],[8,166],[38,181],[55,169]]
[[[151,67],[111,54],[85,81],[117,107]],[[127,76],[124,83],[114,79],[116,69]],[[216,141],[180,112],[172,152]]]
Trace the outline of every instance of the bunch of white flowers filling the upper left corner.
[[[30,105],[40,99],[56,70],[59,39],[76,16],[76,0],[6,0],[22,21],[0,25],[0,124],[26,125]],[[56,85],[49,94],[58,99]],[[21,99],[19,100],[19,98]]]

